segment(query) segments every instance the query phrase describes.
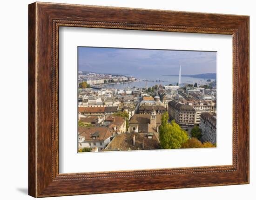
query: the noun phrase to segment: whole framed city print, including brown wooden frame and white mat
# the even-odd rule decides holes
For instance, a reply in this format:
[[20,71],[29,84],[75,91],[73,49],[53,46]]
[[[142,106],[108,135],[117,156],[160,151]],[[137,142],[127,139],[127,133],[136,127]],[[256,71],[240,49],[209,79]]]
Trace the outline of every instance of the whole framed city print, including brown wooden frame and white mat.
[[249,17],[29,5],[29,195],[249,183]]

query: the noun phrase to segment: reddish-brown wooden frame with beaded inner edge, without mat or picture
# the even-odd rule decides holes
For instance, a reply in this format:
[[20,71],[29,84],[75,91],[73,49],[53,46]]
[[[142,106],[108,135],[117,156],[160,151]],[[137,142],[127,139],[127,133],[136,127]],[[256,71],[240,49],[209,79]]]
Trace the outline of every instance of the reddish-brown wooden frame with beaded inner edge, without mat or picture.
[[[249,183],[249,16],[38,2],[28,7],[29,195],[47,197]],[[232,35],[233,164],[59,174],[60,26]]]

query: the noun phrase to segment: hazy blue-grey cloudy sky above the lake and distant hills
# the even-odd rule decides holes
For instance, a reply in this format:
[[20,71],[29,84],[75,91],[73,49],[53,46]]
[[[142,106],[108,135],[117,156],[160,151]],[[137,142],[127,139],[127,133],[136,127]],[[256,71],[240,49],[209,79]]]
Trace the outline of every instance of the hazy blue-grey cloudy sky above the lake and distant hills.
[[216,73],[216,52],[78,47],[79,71],[143,75]]

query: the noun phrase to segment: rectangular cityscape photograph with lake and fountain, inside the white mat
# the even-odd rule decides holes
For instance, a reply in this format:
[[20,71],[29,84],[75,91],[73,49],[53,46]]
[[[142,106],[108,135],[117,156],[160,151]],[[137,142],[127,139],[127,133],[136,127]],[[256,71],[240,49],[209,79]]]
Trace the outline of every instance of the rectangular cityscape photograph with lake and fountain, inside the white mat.
[[216,52],[78,47],[78,153],[216,148]]

